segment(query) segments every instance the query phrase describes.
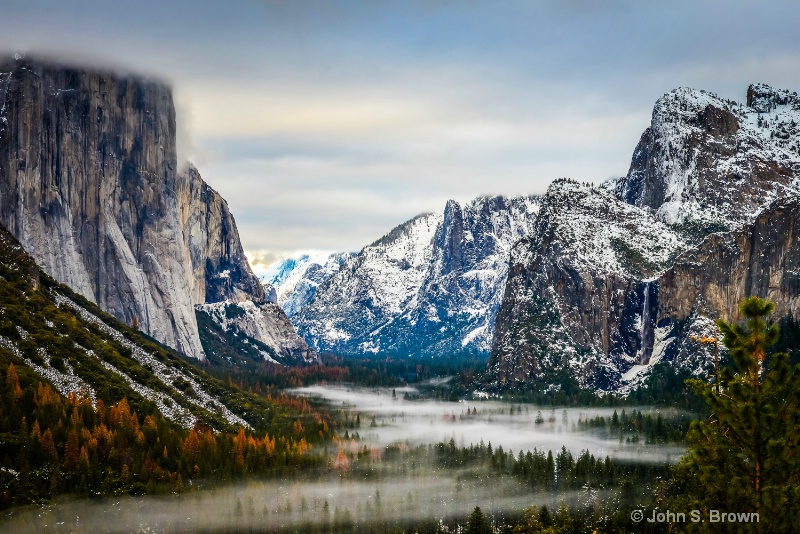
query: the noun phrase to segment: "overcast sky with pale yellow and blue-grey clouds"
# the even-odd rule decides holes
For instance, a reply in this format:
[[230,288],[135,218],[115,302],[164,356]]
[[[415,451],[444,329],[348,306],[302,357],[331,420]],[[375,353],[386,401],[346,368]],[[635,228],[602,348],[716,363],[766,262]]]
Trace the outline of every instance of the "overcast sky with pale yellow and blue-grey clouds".
[[0,0],[0,48],[164,78],[262,261],[625,174],[655,100],[800,89],[800,3]]

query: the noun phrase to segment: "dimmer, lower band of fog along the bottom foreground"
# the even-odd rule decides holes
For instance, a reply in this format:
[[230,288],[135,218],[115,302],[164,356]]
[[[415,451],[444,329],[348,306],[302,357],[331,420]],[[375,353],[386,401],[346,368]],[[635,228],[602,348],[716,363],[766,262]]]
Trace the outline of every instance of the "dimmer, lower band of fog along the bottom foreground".
[[[464,517],[475,506],[487,515],[521,513],[532,504],[557,506],[562,499],[592,505],[594,491],[531,494],[513,481],[459,479],[449,474],[365,482],[259,482],[168,497],[63,501],[15,510],[0,521],[6,532],[213,532],[300,528],[344,521],[405,522]],[[325,503],[327,502],[327,512]]]

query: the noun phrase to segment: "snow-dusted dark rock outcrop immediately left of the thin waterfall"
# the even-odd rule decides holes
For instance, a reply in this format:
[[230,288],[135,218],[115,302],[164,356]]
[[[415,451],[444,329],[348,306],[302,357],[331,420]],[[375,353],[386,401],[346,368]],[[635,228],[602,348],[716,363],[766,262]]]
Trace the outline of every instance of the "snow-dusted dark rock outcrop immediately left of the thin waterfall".
[[553,182],[534,231],[511,253],[490,380],[547,386],[569,373],[584,386],[613,387],[652,356],[657,288],[643,280],[687,247],[668,225],[601,188]]

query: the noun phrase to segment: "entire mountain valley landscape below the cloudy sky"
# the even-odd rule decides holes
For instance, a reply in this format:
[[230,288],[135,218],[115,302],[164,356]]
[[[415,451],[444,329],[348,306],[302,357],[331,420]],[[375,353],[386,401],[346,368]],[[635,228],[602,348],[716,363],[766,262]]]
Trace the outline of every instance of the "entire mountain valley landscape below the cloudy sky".
[[260,277],[167,84],[19,55],[0,94],[3,530],[796,519],[796,93],[675,89],[625,176]]

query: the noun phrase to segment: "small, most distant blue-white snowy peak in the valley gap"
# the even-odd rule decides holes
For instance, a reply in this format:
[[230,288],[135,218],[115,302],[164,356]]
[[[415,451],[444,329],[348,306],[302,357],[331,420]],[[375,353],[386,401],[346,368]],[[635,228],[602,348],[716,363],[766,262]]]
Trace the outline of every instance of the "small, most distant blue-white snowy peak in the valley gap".
[[267,293],[274,290],[275,302],[292,317],[311,302],[317,287],[355,255],[353,252],[316,252],[282,258],[270,265],[259,279]]

